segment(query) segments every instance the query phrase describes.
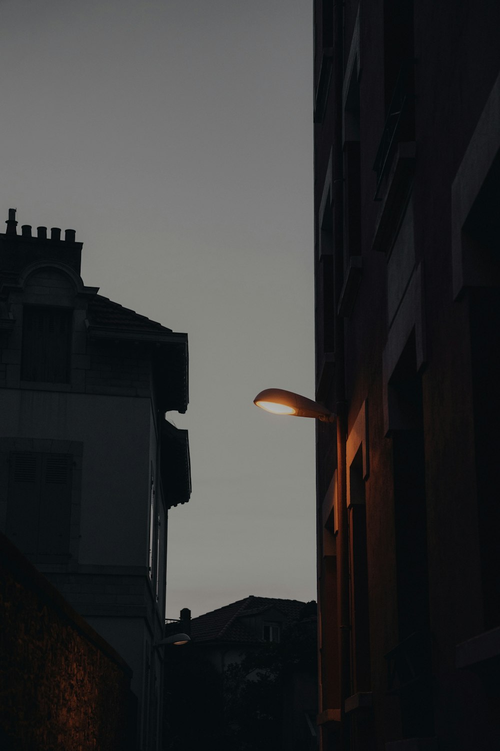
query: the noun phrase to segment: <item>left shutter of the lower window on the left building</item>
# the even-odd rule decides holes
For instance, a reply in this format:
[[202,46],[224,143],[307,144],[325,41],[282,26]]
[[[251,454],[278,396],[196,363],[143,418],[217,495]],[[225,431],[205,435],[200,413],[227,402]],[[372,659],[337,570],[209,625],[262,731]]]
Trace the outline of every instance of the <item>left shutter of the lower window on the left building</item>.
[[42,454],[10,452],[7,500],[7,537],[35,559],[38,547]]

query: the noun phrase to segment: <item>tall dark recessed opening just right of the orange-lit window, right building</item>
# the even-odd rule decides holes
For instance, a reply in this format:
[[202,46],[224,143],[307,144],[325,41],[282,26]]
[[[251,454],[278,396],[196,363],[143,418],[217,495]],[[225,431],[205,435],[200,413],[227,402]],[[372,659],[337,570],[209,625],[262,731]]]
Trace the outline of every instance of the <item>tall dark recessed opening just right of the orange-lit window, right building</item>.
[[424,410],[421,375],[416,367],[415,331],[406,342],[389,388],[397,400],[401,425],[392,436],[399,626],[397,654],[392,659],[399,682],[403,737],[430,737],[434,733],[434,719]]

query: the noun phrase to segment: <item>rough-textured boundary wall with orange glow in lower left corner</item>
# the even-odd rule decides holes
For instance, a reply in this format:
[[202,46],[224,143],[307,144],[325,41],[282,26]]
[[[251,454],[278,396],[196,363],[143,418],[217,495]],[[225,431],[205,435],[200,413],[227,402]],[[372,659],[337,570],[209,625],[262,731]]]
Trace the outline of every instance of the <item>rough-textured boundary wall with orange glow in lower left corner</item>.
[[130,668],[0,536],[0,746],[127,749]]

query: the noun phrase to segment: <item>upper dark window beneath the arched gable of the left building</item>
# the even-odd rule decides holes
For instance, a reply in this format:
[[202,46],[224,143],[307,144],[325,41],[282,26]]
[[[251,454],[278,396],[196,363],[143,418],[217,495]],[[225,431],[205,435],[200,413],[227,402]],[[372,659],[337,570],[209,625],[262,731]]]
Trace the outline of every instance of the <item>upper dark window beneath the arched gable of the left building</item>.
[[67,308],[24,306],[22,381],[69,382],[72,317]]

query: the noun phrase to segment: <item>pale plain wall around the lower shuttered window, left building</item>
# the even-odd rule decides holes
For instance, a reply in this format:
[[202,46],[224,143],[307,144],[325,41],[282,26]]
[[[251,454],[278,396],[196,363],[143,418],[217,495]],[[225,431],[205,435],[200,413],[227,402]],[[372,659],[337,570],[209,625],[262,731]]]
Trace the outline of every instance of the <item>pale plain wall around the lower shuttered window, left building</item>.
[[80,564],[148,565],[150,409],[148,399],[0,390],[11,451],[29,450],[15,439],[82,443]]

